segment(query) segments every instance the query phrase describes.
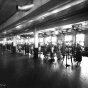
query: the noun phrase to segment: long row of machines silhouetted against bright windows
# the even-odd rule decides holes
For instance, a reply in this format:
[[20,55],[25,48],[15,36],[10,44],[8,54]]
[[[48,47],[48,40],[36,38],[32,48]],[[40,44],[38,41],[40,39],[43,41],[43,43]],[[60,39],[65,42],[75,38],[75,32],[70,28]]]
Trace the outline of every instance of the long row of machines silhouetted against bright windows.
[[[54,63],[56,63],[57,61],[64,61],[66,67],[69,66],[68,62],[70,60],[70,65],[73,65],[73,61],[75,60],[76,54],[76,50],[74,49],[74,47],[76,47],[77,43],[80,43],[82,48],[84,46],[84,34],[81,33],[79,25],[70,25],[69,28],[55,27],[39,31],[38,57],[41,60],[50,61]],[[17,35],[15,43],[16,53],[28,55],[29,58],[33,58],[33,32]],[[12,52],[13,36],[1,39],[0,48]]]

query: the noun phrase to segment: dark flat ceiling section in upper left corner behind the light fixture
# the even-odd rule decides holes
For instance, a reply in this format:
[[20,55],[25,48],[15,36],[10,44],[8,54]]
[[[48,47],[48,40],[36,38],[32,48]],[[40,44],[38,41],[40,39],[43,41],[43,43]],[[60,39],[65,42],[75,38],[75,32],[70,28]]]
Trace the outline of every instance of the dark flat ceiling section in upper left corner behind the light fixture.
[[6,22],[17,11],[17,6],[22,6],[33,0],[0,0],[0,25]]

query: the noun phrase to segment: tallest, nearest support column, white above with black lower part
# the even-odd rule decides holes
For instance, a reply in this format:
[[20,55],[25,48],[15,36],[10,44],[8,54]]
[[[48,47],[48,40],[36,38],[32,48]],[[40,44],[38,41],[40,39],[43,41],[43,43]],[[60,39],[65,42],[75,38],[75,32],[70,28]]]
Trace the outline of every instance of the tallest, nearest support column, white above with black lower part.
[[34,59],[38,59],[38,31],[34,31]]

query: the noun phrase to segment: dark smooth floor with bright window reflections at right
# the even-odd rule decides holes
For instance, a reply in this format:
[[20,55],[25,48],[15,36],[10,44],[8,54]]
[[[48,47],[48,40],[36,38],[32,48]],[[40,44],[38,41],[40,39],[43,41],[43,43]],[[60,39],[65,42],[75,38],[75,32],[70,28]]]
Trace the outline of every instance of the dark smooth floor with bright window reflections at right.
[[43,62],[0,50],[0,88],[88,88],[88,58],[66,68],[65,61]]

